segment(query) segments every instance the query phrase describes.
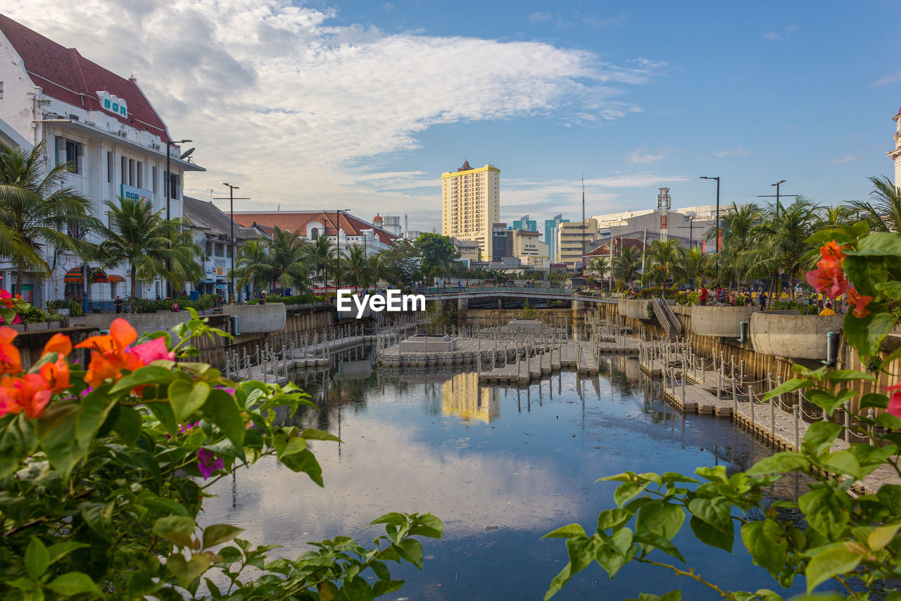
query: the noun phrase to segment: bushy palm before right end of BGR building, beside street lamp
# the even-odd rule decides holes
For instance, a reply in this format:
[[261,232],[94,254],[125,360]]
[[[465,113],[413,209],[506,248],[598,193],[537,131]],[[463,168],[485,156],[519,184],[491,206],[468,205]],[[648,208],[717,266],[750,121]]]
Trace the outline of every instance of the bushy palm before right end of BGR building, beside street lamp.
[[[109,209],[110,227],[98,224],[97,233],[103,241],[94,256],[104,268],[129,265],[132,309],[138,280],[162,276],[183,285],[188,279],[199,279],[197,272],[201,267],[196,257],[202,251],[185,231],[182,219],[167,221],[160,217],[162,209],[153,212],[150,203],[141,199],[118,197],[107,200],[105,205]],[[173,267],[167,268],[167,263]]]

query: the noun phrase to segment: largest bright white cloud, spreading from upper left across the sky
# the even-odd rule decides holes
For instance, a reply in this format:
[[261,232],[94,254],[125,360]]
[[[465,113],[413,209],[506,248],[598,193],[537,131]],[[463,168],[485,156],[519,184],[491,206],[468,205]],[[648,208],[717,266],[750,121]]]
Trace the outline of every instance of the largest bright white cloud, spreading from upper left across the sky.
[[[335,10],[290,0],[148,0],[115,10],[103,0],[7,0],[4,12],[133,73],[171,134],[195,141],[208,171],[192,174],[187,191],[236,180],[262,203],[243,209],[341,203],[365,216],[385,202],[417,213],[422,198],[366,176],[379,157],[418,148],[432,125],[550,114],[603,123],[641,110],[612,98],[651,77],[647,65],[611,65],[550,43],[336,26]],[[467,77],[442,77],[461,64]]]

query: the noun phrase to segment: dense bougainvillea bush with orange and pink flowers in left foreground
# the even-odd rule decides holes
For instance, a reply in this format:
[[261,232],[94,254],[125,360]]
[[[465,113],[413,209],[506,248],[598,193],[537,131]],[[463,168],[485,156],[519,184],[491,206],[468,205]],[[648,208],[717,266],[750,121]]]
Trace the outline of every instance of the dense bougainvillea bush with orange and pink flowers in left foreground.
[[239,384],[196,363],[192,340],[228,335],[195,311],[173,333],[175,346],[167,333],[139,340],[116,319],[76,345],[87,365],[57,334],[26,371],[16,332],[0,327],[3,598],[368,599],[403,585],[387,562],[422,568],[415,537],[442,530],[429,513],[388,513],[369,547],[336,537],[293,559],[229,524],[198,528],[218,478],[273,455],[321,486],[310,444],[337,439],[278,425],[276,409],[313,406],[296,386]]

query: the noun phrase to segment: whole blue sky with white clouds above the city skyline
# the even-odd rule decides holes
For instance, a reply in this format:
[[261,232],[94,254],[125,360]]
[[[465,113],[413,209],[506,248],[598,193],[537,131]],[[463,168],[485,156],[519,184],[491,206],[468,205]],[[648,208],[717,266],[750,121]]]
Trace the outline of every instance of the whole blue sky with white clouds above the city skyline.
[[[501,170],[501,218],[824,204],[891,175],[901,3],[5,0],[134,75],[236,210],[350,209],[441,231],[441,173]],[[225,203],[223,203],[224,206]]]

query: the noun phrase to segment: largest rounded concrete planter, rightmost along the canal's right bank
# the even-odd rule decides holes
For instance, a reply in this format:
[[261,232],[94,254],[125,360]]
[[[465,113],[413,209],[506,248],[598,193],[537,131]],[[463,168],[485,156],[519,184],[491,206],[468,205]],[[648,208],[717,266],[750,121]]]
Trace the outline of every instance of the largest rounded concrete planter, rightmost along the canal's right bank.
[[764,355],[799,359],[826,358],[829,332],[842,331],[843,315],[783,315],[773,311],[751,316],[751,344]]

